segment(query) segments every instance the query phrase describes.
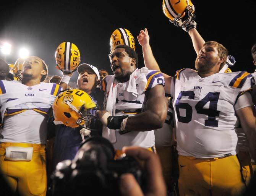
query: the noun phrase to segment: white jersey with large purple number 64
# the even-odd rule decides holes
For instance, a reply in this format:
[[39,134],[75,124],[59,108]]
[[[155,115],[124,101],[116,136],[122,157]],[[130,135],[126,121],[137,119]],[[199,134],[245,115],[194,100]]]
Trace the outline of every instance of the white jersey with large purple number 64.
[[188,68],[177,71],[171,94],[178,154],[196,158],[235,155],[238,118],[234,105],[254,83],[246,71],[216,73],[206,78]]

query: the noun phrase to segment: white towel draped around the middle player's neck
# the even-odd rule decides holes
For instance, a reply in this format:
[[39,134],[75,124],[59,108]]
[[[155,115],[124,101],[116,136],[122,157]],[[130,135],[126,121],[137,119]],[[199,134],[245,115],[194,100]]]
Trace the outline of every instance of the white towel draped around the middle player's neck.
[[[137,97],[143,91],[145,91],[145,87],[147,84],[146,73],[148,73],[148,69],[146,67],[136,69],[130,75],[129,85],[127,87],[128,92],[132,92],[133,96]],[[106,92],[109,92],[109,96],[107,97],[107,104],[105,110],[109,111],[112,116],[115,116],[115,102],[117,99],[117,86],[118,80],[115,79],[115,75],[111,76],[108,81],[108,85],[106,87]],[[136,87],[136,84],[139,84],[139,88]],[[104,138],[109,139],[111,143],[115,143],[117,141],[115,136],[115,130],[107,128],[107,126],[103,126],[102,128],[102,136]]]

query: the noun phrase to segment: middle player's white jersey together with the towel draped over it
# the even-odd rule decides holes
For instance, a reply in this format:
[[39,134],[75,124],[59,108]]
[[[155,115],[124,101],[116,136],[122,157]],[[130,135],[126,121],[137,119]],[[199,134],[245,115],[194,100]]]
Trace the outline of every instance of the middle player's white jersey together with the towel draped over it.
[[[109,96],[109,89],[111,85],[117,87],[116,90],[116,102],[115,102],[115,116],[129,115],[133,116],[137,113],[143,112],[144,102],[146,102],[145,91],[152,89],[156,85],[164,85],[164,77],[159,71],[148,70],[146,67],[136,69],[130,76],[130,80],[125,83],[115,81],[110,83],[113,76],[106,76],[102,80],[101,88],[105,91],[106,104]],[[133,86],[134,89],[128,90],[129,86]],[[138,94],[134,94],[131,91],[136,91]],[[155,144],[154,130],[151,131],[131,131],[129,133],[120,134],[119,130],[109,130],[109,132],[103,130],[103,136],[110,139],[113,146],[117,150],[121,150],[123,146],[141,146],[145,148],[151,148]],[[114,134],[111,138],[110,134]]]

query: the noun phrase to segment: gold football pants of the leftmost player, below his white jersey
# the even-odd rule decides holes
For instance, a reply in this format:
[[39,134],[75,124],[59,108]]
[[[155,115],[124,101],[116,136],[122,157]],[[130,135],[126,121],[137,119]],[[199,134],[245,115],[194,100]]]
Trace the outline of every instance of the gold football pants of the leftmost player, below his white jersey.
[[[33,147],[31,161],[5,159],[8,146]],[[0,169],[13,191],[24,196],[45,196],[47,177],[45,145],[29,143],[0,143]]]

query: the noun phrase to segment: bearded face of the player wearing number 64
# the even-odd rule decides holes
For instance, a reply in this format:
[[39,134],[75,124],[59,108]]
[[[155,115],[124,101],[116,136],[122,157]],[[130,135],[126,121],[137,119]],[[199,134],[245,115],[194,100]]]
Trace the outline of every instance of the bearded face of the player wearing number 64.
[[205,45],[196,57],[195,68],[199,72],[210,71],[220,61],[219,52],[214,45]]

